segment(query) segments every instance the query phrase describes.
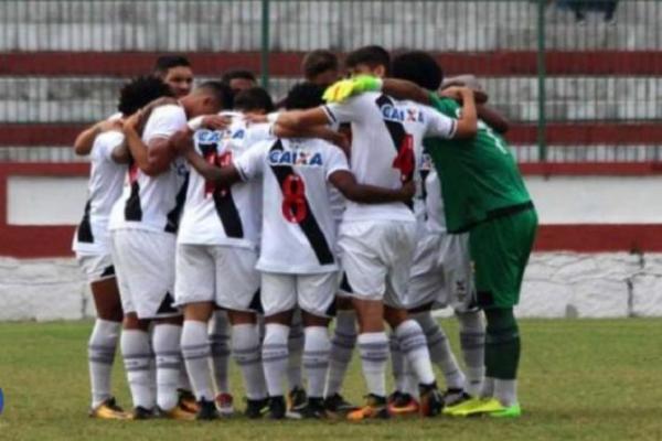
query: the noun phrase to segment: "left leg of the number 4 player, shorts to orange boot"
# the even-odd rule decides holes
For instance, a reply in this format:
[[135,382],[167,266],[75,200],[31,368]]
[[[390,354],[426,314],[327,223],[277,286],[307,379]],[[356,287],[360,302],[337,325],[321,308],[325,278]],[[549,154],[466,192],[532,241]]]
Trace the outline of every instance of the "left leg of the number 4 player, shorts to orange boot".
[[382,319],[386,267],[374,249],[385,239],[385,234],[383,224],[343,223],[340,227],[341,262],[352,287],[352,304],[359,322],[359,353],[369,391],[366,405],[348,415],[351,420],[388,417],[388,337]]

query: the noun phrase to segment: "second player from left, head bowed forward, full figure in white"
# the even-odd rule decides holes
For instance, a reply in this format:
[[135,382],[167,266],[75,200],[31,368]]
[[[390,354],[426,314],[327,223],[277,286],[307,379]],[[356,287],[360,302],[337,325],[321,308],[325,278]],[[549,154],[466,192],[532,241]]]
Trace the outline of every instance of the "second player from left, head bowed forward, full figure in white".
[[[178,404],[181,368],[181,313],[173,308],[174,248],[186,192],[186,166],[175,158],[169,138],[188,118],[218,111],[215,83],[199,86],[179,101],[154,105],[145,122],[137,112],[125,122],[132,162],[121,197],[113,207],[109,229],[125,311],[121,352],[134,399],[134,419],[153,416],[193,419]],[[148,330],[153,322],[152,345]],[[156,389],[151,361],[156,354]]]

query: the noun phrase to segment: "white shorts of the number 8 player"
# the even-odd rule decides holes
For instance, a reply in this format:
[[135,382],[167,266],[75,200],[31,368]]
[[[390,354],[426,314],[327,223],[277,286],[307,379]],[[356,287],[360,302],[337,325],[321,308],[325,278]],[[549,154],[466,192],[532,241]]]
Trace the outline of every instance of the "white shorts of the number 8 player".
[[332,316],[338,273],[261,273],[261,303],[265,315],[293,310],[297,305],[313,315]]

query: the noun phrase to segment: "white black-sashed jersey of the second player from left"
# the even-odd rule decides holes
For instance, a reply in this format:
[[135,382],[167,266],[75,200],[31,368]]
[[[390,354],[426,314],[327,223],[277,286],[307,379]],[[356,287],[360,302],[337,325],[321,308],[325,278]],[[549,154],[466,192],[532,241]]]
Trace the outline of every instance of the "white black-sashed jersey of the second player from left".
[[[149,146],[151,140],[170,138],[185,127],[186,115],[181,106],[160,106],[147,120],[142,141]],[[113,207],[109,228],[177,233],[186,184],[188,170],[182,158],[175,158],[169,170],[157,176],[148,176],[131,164],[122,195]]]

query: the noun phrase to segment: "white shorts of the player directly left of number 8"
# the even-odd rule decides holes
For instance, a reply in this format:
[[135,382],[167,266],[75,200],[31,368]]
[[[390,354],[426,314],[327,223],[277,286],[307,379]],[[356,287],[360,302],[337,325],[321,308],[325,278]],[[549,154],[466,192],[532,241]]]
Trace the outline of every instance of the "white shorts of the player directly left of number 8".
[[215,302],[233,311],[258,311],[256,262],[257,252],[247,248],[178,244],[175,304]]

